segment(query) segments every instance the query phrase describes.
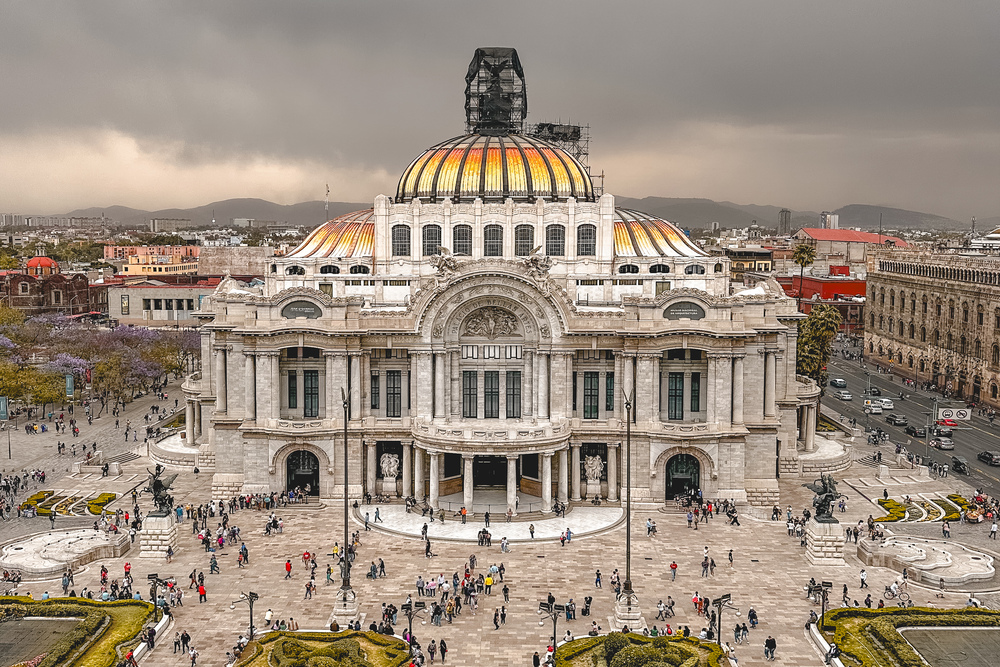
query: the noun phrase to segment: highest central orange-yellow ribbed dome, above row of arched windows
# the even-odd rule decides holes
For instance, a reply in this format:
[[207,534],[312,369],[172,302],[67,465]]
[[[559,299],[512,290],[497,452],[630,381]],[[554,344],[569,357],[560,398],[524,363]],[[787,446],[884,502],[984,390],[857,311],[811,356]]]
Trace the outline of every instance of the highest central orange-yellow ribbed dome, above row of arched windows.
[[594,201],[586,168],[566,151],[520,134],[468,134],[427,149],[403,172],[396,201]]

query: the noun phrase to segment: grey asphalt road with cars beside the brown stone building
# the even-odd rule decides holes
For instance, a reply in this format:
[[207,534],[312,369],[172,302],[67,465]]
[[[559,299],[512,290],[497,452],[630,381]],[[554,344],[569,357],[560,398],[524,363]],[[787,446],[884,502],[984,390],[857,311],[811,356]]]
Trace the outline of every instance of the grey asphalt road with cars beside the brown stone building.
[[[852,348],[852,350],[855,349],[857,348]],[[975,481],[975,486],[986,490],[992,496],[1000,496],[1000,468],[989,466],[976,458],[984,450],[1000,452],[1000,420],[997,420],[995,427],[991,427],[988,419],[976,416],[975,411],[973,411],[971,420],[958,422],[959,426],[954,429],[955,434],[952,436],[952,440],[955,441],[954,451],[939,451],[928,447],[924,438],[914,438],[907,435],[903,430],[904,426],[890,425],[885,421],[885,417],[890,413],[901,414],[909,420],[911,425],[924,426],[933,409],[935,397],[938,398],[939,408],[965,407],[964,403],[945,401],[940,394],[907,387],[898,377],[876,373],[870,364],[865,364],[866,368],[861,368],[857,361],[845,360],[839,350],[840,346],[838,345],[835,347],[833,358],[830,361],[830,379],[843,378],[847,380],[847,390],[854,398],[850,401],[841,401],[833,396],[837,389],[827,387],[823,396],[824,405],[847,417],[857,419],[858,426],[864,427],[864,394],[868,389],[870,377],[872,386],[878,387],[882,391],[882,397],[892,399],[895,404],[892,410],[886,410],[881,415],[868,416],[868,423],[872,428],[879,427],[886,431],[889,433],[889,440],[892,443],[901,443],[914,454],[923,456],[926,452],[931,460],[947,463],[948,474],[951,474],[951,457],[953,455],[964,456],[969,461],[969,477]],[[899,400],[900,391],[906,394],[906,400]]]

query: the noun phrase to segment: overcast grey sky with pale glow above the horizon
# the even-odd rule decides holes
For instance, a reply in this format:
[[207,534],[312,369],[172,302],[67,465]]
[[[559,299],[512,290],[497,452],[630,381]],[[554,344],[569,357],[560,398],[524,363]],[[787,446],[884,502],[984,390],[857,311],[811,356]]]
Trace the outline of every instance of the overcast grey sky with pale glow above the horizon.
[[1000,215],[995,0],[4,0],[0,210],[391,194],[477,46],[616,194]]

